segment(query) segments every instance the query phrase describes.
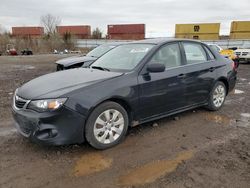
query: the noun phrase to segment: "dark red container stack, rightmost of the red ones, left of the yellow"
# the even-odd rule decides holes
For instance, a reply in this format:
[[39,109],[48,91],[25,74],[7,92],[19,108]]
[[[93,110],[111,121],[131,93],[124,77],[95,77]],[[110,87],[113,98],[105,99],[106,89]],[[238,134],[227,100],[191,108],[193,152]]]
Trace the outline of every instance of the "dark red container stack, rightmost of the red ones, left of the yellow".
[[108,25],[108,39],[142,40],[145,39],[145,24]]

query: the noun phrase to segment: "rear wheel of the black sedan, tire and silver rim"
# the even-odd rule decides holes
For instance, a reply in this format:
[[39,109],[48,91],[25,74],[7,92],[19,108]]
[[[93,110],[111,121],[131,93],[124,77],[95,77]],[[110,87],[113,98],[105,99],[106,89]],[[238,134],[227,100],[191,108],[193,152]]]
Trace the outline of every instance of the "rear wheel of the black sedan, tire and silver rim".
[[219,110],[225,102],[226,95],[227,88],[225,84],[221,81],[216,82],[212,91],[209,94],[207,109],[211,111]]

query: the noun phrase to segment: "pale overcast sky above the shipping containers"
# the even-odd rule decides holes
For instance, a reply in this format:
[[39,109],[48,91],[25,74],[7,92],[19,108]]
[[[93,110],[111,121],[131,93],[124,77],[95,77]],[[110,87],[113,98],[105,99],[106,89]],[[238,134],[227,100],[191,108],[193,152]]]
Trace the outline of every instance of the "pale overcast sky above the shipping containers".
[[147,37],[170,37],[176,23],[213,22],[229,34],[232,20],[250,21],[250,0],[1,0],[0,25],[37,26],[48,13],[61,25],[91,25],[104,33],[108,24],[145,23]]

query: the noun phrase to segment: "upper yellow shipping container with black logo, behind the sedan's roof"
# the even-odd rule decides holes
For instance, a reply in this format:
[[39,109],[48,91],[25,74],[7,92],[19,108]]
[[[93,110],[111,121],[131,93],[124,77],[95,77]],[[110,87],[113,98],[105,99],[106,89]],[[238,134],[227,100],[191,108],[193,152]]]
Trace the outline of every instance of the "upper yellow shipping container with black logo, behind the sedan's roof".
[[176,24],[176,34],[219,34],[220,23],[206,23],[206,24]]

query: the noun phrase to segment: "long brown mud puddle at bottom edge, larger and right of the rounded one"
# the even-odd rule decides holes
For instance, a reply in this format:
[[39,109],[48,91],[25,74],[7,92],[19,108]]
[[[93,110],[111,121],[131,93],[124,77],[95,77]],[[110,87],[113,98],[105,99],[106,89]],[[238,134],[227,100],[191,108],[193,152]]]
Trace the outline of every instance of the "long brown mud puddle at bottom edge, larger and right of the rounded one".
[[191,159],[194,151],[180,153],[172,160],[159,160],[147,163],[143,166],[131,170],[128,174],[121,176],[118,185],[134,186],[152,183],[157,179],[174,172],[179,164]]

